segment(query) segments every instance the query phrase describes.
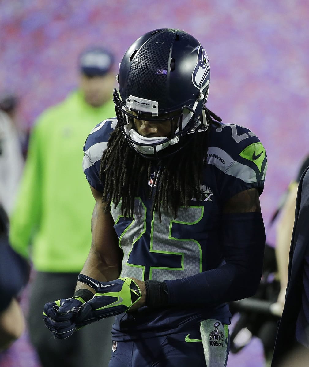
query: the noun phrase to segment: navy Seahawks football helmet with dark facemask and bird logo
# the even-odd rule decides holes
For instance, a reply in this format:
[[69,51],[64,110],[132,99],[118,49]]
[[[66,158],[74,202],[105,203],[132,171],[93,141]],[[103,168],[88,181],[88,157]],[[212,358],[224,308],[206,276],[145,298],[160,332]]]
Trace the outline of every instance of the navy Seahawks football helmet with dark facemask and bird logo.
[[[114,90],[118,123],[131,148],[144,157],[157,157],[169,145],[175,153],[187,134],[208,127],[209,61],[200,42],[177,29],[157,29],[137,39],[122,58]],[[143,137],[134,120],[170,121],[169,137]],[[172,154],[165,151],[166,155]],[[164,156],[162,152],[159,156]]]

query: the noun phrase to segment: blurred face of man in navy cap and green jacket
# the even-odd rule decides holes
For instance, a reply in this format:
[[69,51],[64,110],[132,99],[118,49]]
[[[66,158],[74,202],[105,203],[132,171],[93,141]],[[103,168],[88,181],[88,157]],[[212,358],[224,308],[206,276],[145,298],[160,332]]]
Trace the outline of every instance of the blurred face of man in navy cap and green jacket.
[[79,87],[83,92],[85,101],[93,106],[100,107],[112,97],[115,76],[112,73],[104,76],[80,76]]

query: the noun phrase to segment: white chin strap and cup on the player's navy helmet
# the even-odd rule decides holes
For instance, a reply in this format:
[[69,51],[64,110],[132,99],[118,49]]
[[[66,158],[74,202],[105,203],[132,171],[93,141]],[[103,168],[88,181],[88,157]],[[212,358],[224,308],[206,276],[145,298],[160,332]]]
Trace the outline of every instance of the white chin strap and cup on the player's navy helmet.
[[[129,130],[126,126],[125,126],[125,132],[133,141],[137,143],[137,144],[133,143],[134,148],[138,152],[143,154],[154,154],[154,146],[156,146],[156,151],[159,152],[160,150],[168,147],[169,145],[174,145],[179,141],[179,138],[175,137],[163,144],[160,144],[160,142],[166,140],[166,137],[154,137],[154,138],[143,137],[137,131],[133,129]],[[148,146],[139,145],[140,143],[148,144]]]

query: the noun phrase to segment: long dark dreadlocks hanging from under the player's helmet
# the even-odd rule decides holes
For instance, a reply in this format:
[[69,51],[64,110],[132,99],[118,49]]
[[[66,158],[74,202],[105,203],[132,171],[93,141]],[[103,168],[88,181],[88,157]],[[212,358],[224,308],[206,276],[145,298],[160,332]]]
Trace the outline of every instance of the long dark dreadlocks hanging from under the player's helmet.
[[218,126],[218,122],[222,121],[213,112],[204,109],[209,128],[205,133],[195,133],[190,142],[177,152],[177,164],[173,155],[156,163],[138,155],[127,144],[119,125],[116,126],[101,158],[102,200],[107,202],[107,210],[112,203],[116,207],[121,201],[122,215],[132,217],[134,199],[140,195],[153,168],[155,182],[159,184],[152,185],[149,195],[153,195],[152,214],[157,212],[160,220],[161,209],[172,211],[176,218],[180,206],[188,207],[192,198],[200,197],[200,176],[206,164],[210,127]]

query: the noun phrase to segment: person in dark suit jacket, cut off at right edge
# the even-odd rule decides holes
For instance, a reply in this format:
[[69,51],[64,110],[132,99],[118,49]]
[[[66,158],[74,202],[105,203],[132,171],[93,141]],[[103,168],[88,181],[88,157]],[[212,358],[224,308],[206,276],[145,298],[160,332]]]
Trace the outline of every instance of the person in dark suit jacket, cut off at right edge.
[[[306,168],[296,199],[288,283],[274,347],[272,367],[282,366],[291,353],[309,355],[309,169]],[[297,352],[297,353],[296,353]]]

